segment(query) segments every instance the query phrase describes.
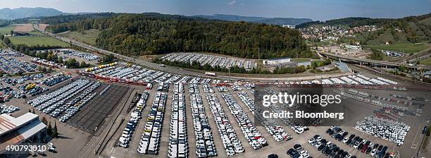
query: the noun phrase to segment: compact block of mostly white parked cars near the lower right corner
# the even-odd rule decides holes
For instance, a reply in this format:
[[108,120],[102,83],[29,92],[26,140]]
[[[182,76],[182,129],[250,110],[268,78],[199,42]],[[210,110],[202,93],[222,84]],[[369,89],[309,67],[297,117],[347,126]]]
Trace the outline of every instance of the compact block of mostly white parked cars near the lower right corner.
[[356,123],[355,128],[377,138],[395,142],[399,146],[403,145],[408,130],[410,130],[410,126],[406,123],[377,116],[366,116],[362,121]]

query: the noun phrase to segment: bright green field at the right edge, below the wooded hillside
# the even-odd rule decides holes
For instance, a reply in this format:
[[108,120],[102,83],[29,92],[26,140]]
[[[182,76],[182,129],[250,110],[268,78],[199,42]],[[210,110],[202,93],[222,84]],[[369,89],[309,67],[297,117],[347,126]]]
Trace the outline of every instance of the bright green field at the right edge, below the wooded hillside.
[[379,50],[403,51],[406,53],[416,53],[430,47],[428,44],[392,44],[392,45],[366,45],[365,47]]

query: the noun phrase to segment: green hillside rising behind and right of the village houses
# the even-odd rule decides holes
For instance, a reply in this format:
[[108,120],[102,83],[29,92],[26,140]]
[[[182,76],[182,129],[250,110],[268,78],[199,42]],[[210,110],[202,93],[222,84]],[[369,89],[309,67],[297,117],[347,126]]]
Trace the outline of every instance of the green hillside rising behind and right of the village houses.
[[314,21],[296,25],[296,28],[308,28],[314,25],[346,25],[354,28],[363,25],[377,25],[381,30],[356,34],[354,39],[361,44],[418,43],[431,41],[431,13],[423,16],[405,18],[340,18],[325,22]]

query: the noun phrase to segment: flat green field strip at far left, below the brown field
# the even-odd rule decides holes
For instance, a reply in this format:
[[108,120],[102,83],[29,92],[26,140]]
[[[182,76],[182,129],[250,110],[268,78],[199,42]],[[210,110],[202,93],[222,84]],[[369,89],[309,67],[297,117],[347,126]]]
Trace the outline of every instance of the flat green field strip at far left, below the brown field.
[[13,44],[27,44],[28,46],[45,45],[45,46],[60,46],[69,47],[68,43],[61,40],[55,39],[49,36],[20,36],[20,37],[9,37]]

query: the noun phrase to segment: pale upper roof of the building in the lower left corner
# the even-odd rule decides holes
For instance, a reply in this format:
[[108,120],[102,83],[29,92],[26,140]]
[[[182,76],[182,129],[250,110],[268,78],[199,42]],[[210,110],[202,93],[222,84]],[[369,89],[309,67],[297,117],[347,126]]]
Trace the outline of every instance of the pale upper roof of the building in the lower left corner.
[[23,114],[22,116],[19,116],[17,118],[9,116],[8,114],[1,114],[0,115],[0,135],[4,135],[5,133],[15,130],[20,126],[23,126],[25,123],[30,122],[34,119],[37,119],[37,117],[38,116],[36,114],[32,114],[30,112],[27,114]]

